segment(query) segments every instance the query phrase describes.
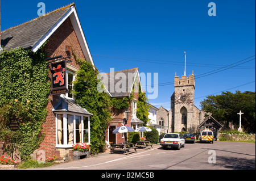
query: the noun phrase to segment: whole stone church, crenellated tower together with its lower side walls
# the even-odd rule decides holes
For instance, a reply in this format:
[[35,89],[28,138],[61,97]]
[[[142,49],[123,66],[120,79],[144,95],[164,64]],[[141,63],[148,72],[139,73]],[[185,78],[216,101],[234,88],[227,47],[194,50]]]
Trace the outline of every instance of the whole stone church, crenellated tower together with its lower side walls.
[[[174,94],[171,96],[171,110],[167,111],[162,106],[156,112],[156,122],[162,126],[160,132],[189,132],[196,133],[197,127],[205,119],[205,111],[199,110],[195,101],[195,75],[181,78],[175,74]],[[166,130],[166,128],[168,128]]]

